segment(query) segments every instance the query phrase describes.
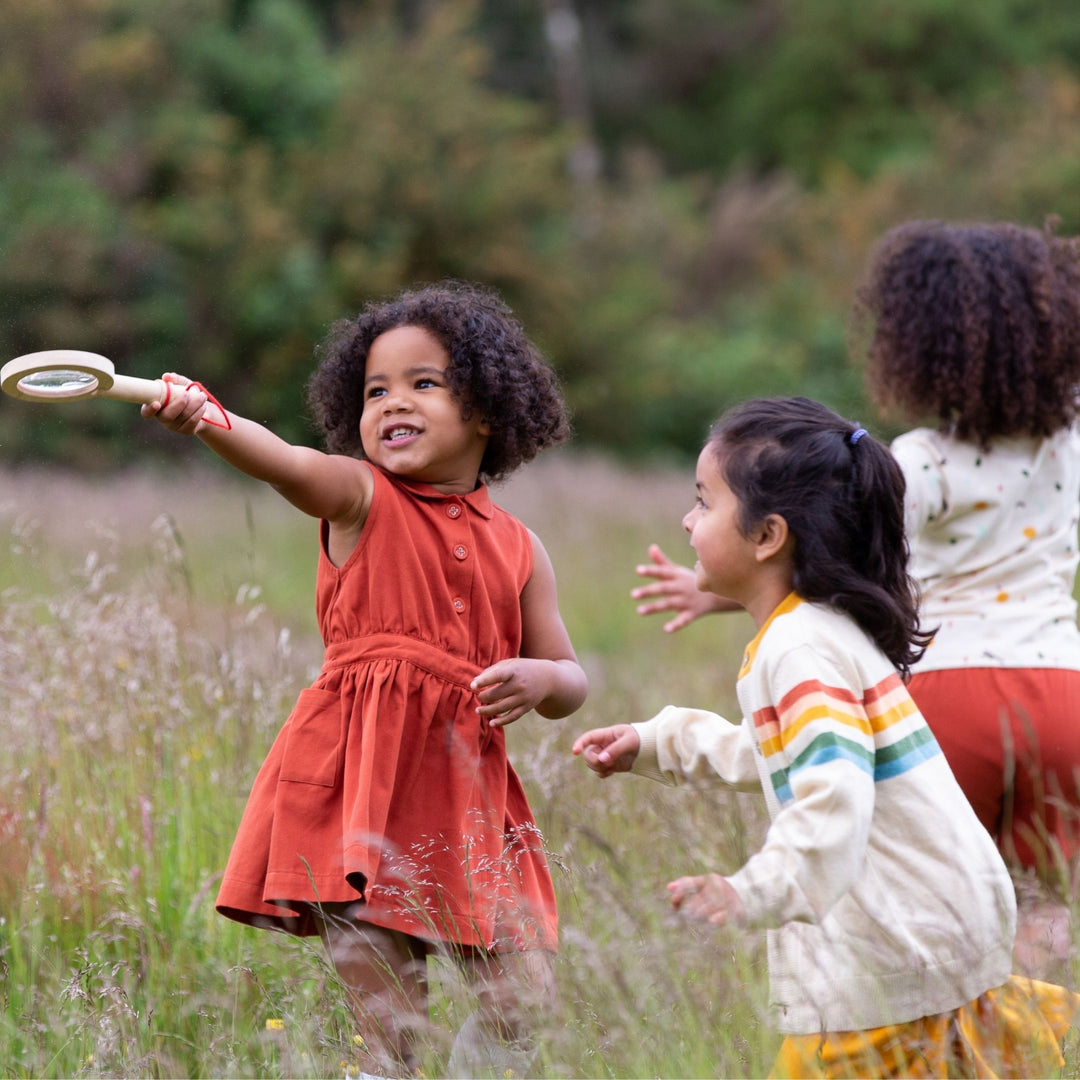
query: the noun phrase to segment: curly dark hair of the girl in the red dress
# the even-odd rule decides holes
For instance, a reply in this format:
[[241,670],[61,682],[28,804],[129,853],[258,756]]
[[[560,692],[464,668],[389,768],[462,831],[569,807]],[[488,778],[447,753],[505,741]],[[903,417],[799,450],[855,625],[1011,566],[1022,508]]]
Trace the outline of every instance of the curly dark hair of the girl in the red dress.
[[319,347],[308,381],[308,405],[332,454],[364,457],[367,355],[380,334],[421,326],[446,349],[446,377],[467,418],[473,410],[490,426],[480,475],[508,476],[570,433],[558,378],[521,323],[490,289],[443,281],[367,305],[355,319],[335,323]]

